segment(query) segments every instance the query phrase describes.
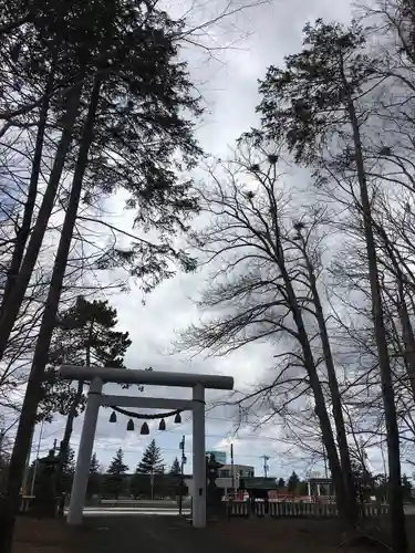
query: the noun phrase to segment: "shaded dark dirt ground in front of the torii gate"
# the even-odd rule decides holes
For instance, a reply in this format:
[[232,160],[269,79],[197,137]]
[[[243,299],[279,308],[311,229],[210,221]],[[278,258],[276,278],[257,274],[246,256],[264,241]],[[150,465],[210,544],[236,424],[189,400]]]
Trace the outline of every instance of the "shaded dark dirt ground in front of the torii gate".
[[[414,517],[407,521],[411,551],[415,552]],[[387,520],[367,529],[385,536]],[[383,526],[383,530],[381,528]],[[141,536],[145,553],[375,553],[366,544],[345,545],[339,520],[231,519],[191,529],[175,517],[112,517],[89,519],[81,528],[63,520],[21,518],[13,553],[136,553]]]

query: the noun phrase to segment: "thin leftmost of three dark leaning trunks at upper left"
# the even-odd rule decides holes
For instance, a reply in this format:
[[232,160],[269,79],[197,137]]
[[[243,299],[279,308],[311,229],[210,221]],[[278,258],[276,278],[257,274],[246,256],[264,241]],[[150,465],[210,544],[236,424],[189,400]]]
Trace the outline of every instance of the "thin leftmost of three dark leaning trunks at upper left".
[[43,153],[44,132],[46,128],[48,112],[49,112],[49,104],[50,104],[50,94],[51,94],[51,91],[53,87],[53,80],[54,80],[54,67],[52,67],[50,73],[49,73],[46,87],[45,87],[44,96],[43,96],[43,103],[42,103],[40,114],[39,114],[38,134],[37,134],[37,142],[35,142],[34,155],[33,155],[33,161],[32,161],[32,171],[31,171],[29,189],[28,189],[28,197],[27,197],[27,200],[24,204],[22,223],[21,223],[21,227],[15,234],[14,248],[13,248],[13,253],[11,257],[10,267],[7,271],[3,298],[1,301],[1,305],[0,305],[0,320],[1,320],[1,315],[4,311],[4,306],[8,303],[8,299],[10,296],[10,293],[14,286],[15,280],[19,275],[19,270],[20,270],[20,265],[21,265],[21,262],[23,259],[24,248],[25,248],[29,234],[30,234],[30,228],[32,226],[32,217],[33,217],[34,205],[35,205],[37,195],[38,195],[40,165],[41,165],[42,153]]

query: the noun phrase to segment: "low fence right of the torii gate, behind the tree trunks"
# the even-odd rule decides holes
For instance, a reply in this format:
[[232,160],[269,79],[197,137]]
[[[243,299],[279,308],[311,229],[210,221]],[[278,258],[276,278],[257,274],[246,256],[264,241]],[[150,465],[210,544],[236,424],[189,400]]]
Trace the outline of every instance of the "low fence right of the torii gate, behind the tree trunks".
[[[387,505],[366,503],[360,505],[361,517],[377,518],[387,514]],[[336,505],[333,503],[300,503],[258,501],[229,501],[227,505],[228,518],[269,517],[273,519],[298,517],[298,518],[334,518],[338,517]]]

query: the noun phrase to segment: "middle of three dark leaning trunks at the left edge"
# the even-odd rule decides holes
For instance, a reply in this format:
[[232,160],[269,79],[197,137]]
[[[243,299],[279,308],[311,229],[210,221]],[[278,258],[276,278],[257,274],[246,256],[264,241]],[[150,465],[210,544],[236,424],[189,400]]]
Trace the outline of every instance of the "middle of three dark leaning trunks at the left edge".
[[63,125],[63,132],[60,143],[56,148],[52,171],[49,178],[48,187],[43,196],[41,207],[39,209],[38,219],[32,230],[28,249],[18,276],[13,281],[12,290],[9,294],[9,301],[0,317],[0,361],[4,355],[4,351],[19,314],[20,306],[24,300],[24,294],[28,290],[30,279],[33,273],[34,265],[38,261],[38,255],[42,247],[43,238],[48,228],[48,222],[53,209],[59,182],[62,176],[66,155],[72,142],[74,124],[77,117],[80,100],[81,100],[82,83],[74,86],[68,100],[68,108]]

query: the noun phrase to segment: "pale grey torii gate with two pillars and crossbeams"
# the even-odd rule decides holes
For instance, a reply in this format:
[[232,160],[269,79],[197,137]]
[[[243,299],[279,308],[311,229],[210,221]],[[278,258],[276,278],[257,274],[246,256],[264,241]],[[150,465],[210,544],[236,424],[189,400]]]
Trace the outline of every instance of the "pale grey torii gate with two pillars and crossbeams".
[[[82,426],[75,476],[72,484],[69,524],[81,524],[94,447],[95,429],[101,406],[145,407],[193,411],[193,525],[206,526],[206,460],[205,460],[205,388],[232,389],[234,378],[219,375],[129,371],[123,368],[85,367],[62,365],[60,374],[70,380],[91,382]],[[193,388],[191,399],[159,397],[114,396],[102,393],[103,385],[147,384],[152,386],[178,386]]]

